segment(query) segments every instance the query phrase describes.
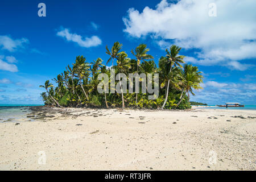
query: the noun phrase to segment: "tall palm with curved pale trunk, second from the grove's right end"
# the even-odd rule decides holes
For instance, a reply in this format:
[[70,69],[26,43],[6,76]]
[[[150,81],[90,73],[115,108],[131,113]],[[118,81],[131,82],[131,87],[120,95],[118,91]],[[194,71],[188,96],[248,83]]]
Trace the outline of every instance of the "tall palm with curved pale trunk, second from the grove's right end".
[[[179,55],[181,47],[172,45],[170,47],[170,52],[168,51],[168,49],[166,49],[166,57],[164,57],[164,60],[166,61],[166,64],[168,67],[170,67],[170,72],[172,71],[172,67],[175,66],[177,67],[177,65],[179,67],[182,68],[182,66],[180,65],[180,63],[184,63],[183,59],[185,56],[181,56]],[[169,85],[170,85],[170,80],[168,80],[167,82],[167,87],[166,87],[166,98],[164,99],[164,104],[162,106],[162,109],[164,108],[164,106],[166,105],[167,102],[167,98],[168,98],[168,92],[169,92]]]

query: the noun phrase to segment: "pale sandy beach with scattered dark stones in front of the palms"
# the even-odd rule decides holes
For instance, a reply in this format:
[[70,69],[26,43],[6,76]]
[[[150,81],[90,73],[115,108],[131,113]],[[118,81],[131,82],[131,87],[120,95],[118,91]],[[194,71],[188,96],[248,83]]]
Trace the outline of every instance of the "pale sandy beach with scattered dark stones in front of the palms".
[[0,170],[256,168],[255,110],[48,110],[0,123]]

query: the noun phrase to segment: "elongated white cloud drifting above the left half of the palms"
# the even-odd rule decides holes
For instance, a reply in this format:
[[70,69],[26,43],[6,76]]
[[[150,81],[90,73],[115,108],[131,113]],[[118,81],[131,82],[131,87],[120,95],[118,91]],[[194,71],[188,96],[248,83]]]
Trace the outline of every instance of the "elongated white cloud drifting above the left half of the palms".
[[81,47],[95,47],[101,45],[101,39],[98,38],[98,36],[82,38],[81,35],[72,34],[69,32],[68,28],[63,28],[61,31],[57,32],[57,36],[61,36],[67,41],[75,42]]

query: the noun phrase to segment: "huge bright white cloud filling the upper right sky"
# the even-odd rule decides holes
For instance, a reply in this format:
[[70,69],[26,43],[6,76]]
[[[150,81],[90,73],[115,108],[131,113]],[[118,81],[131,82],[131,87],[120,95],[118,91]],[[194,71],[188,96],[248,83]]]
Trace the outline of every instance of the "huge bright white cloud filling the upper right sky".
[[[212,2],[216,17],[208,15]],[[256,58],[255,6],[251,0],[162,0],[156,9],[145,7],[142,13],[129,9],[124,31],[137,38],[150,35],[161,47],[174,43],[199,49],[197,59],[186,57],[188,62],[244,71],[250,65],[238,61]]]

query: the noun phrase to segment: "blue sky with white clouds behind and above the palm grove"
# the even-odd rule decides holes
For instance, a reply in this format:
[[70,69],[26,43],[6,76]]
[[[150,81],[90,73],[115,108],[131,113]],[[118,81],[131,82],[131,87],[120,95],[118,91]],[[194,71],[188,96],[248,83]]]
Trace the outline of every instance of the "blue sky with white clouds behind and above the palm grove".
[[[40,2],[46,17],[38,16]],[[146,43],[156,63],[171,44],[183,47],[180,54],[204,75],[192,101],[256,105],[255,6],[250,0],[2,0],[0,104],[42,104],[39,85],[77,55],[106,63],[105,46],[118,41],[131,58],[131,49]]]

